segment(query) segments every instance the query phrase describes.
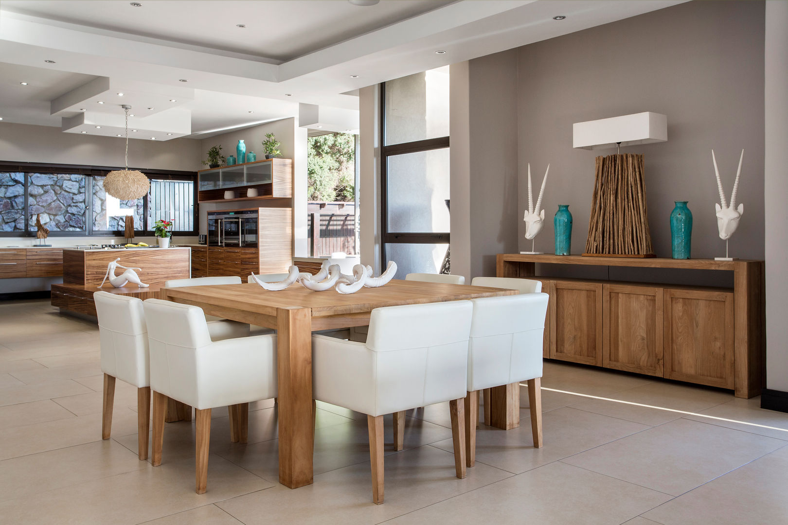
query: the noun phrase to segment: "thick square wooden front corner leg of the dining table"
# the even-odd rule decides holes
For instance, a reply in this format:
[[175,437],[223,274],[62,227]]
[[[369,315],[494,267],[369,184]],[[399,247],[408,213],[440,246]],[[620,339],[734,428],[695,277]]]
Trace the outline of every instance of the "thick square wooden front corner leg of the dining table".
[[312,483],[312,311],[277,310],[279,482],[295,489]]

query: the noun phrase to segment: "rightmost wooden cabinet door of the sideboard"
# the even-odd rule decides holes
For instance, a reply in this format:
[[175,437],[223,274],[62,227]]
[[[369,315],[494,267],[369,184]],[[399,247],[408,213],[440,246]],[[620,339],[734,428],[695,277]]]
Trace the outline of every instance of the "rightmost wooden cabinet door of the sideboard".
[[734,387],[734,294],[664,289],[668,379]]

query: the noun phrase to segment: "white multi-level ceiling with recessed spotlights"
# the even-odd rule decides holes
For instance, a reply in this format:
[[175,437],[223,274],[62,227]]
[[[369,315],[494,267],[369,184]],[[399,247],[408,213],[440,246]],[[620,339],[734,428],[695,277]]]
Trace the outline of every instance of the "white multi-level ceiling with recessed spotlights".
[[[106,77],[107,95],[147,83],[166,100],[188,88],[193,98],[178,109],[191,112],[191,135],[173,113],[179,132],[167,138],[298,116],[299,102],[330,109],[320,110],[321,120],[357,119],[360,87],[682,1],[381,0],[361,7],[346,0],[139,0],[142,6],[132,7],[125,0],[2,0],[0,116],[59,127],[61,116],[73,118],[80,107],[86,90],[77,88]],[[559,14],[566,20],[552,19]],[[50,115],[50,101],[66,94],[71,111]],[[88,123],[99,109],[122,115],[82,100],[93,107]]]

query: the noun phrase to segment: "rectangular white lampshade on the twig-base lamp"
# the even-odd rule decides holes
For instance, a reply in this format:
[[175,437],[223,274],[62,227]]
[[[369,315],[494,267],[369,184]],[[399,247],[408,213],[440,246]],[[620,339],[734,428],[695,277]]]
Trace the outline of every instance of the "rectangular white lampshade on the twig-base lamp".
[[609,119],[588,120],[572,124],[572,147],[583,150],[605,150],[621,146],[667,141],[667,115],[633,113]]

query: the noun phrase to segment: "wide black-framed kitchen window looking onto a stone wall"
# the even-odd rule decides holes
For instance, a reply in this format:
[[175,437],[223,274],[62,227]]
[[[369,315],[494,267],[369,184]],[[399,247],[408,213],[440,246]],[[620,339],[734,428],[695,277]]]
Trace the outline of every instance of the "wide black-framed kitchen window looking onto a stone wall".
[[0,164],[0,236],[35,235],[35,220],[51,236],[117,236],[134,221],[136,235],[153,235],[158,219],[173,220],[174,231],[197,235],[193,172],[151,170],[144,198],[121,201],[107,195],[103,180],[111,168]]

